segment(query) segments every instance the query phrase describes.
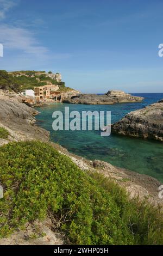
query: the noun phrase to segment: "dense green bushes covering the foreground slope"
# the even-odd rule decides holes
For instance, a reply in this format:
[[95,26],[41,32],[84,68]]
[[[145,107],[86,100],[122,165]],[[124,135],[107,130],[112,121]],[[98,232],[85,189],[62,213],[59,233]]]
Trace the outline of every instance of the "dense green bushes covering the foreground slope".
[[26,222],[52,218],[54,227],[80,245],[161,244],[159,210],[102,175],[84,173],[68,157],[41,142],[0,148],[0,236]]

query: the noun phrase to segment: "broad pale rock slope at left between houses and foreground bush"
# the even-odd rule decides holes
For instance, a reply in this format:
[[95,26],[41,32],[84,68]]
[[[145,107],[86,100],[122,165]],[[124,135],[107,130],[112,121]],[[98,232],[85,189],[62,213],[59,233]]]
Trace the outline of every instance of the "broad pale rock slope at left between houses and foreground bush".
[[0,92],[0,127],[9,132],[8,140],[0,138],[0,144],[27,139],[48,141],[49,133],[35,125],[35,114],[34,108],[23,103],[21,95]]

